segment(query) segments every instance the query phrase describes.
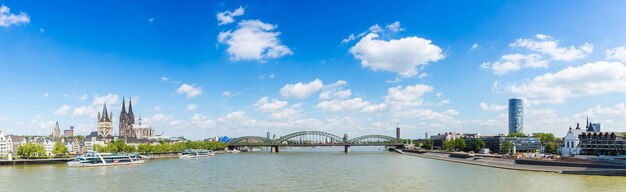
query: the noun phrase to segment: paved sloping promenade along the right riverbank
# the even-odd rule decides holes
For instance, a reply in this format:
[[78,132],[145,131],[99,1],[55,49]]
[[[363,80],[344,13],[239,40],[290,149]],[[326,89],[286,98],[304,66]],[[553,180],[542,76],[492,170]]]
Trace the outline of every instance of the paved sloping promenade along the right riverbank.
[[590,168],[582,166],[544,166],[544,165],[530,165],[530,164],[518,164],[515,159],[501,159],[493,157],[484,158],[455,158],[450,157],[448,153],[426,152],[426,153],[414,153],[403,152],[404,155],[435,159],[441,161],[449,161],[455,163],[463,163],[484,167],[510,169],[519,171],[535,171],[535,172],[550,172],[561,174],[583,174],[583,175],[608,175],[608,176],[626,176],[626,169],[614,169],[614,168]]

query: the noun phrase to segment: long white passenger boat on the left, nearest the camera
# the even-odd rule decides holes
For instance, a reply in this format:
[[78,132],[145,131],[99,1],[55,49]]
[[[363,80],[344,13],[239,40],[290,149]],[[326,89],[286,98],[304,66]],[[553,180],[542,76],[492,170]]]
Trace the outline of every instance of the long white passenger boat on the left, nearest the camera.
[[117,165],[143,164],[141,156],[127,153],[98,153],[88,151],[84,155],[76,156],[76,160],[67,162],[70,167],[98,167]]

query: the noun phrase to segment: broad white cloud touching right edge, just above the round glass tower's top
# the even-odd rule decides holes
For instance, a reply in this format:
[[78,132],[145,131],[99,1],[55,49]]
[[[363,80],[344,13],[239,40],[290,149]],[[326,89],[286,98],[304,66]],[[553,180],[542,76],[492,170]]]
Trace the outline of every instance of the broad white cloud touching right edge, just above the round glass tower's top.
[[626,66],[619,62],[595,62],[547,73],[517,85],[511,93],[531,103],[563,103],[569,97],[626,92]]

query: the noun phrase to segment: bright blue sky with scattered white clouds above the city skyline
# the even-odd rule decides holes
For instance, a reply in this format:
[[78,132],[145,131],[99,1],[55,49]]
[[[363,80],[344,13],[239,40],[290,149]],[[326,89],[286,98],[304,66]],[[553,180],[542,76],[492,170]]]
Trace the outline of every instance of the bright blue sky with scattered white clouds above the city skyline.
[[624,1],[0,1],[0,130],[626,131]]

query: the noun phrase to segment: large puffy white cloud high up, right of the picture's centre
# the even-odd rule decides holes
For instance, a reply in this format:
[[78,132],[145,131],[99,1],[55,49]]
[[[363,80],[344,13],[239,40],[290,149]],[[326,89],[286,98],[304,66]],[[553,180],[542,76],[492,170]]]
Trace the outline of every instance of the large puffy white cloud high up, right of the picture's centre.
[[361,61],[361,66],[373,71],[391,71],[403,77],[419,73],[418,67],[444,58],[441,48],[428,39],[405,37],[383,40],[376,33],[365,35],[350,53]]

